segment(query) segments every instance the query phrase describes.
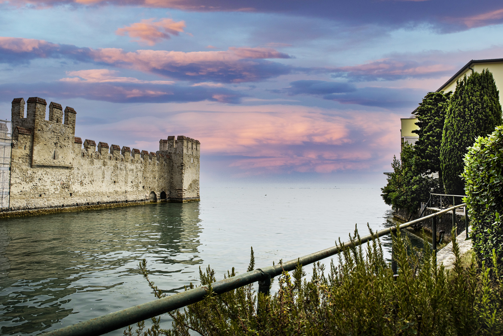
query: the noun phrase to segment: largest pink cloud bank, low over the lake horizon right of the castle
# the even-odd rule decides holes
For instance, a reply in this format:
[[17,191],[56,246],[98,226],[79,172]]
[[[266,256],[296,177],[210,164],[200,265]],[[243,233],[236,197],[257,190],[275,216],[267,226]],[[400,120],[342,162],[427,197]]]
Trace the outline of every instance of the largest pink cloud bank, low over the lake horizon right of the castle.
[[[162,113],[160,111],[163,111]],[[165,113],[165,111],[171,111]],[[166,104],[159,113],[106,125],[158,146],[141,122],[163,135],[184,134],[201,142],[202,155],[226,162],[233,174],[380,170],[399,150],[399,115],[291,105],[226,106]],[[104,126],[100,126],[104,127]],[[227,157],[228,159],[225,159]]]

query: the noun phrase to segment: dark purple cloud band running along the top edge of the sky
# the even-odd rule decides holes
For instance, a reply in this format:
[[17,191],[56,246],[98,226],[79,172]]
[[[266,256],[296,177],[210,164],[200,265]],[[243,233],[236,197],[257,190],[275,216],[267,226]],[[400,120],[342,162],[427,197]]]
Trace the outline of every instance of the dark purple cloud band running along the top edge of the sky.
[[354,0],[334,4],[330,0],[306,2],[304,0],[11,0],[11,6],[98,6],[129,5],[154,8],[173,8],[197,12],[259,12],[300,15],[346,22],[350,25],[383,25],[410,27],[429,24],[448,32],[503,22],[503,5],[497,0],[474,2],[470,0],[430,1],[372,1]]

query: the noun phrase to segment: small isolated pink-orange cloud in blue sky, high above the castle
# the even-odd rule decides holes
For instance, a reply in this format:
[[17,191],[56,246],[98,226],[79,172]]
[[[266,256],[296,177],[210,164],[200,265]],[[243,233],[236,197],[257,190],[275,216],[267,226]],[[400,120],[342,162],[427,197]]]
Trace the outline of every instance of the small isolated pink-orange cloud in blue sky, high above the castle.
[[117,35],[129,35],[135,38],[134,42],[154,45],[162,40],[171,38],[171,35],[178,36],[183,33],[185,21],[175,22],[173,19],[161,19],[154,22],[154,19],[144,19],[133,23],[129,27],[119,28],[115,32]]

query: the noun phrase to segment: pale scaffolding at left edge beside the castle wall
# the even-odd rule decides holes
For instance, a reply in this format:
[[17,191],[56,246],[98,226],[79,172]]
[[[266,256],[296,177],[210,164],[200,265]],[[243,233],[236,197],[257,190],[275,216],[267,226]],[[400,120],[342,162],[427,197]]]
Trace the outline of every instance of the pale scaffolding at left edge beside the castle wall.
[[0,120],[0,208],[9,208],[11,192],[12,122]]

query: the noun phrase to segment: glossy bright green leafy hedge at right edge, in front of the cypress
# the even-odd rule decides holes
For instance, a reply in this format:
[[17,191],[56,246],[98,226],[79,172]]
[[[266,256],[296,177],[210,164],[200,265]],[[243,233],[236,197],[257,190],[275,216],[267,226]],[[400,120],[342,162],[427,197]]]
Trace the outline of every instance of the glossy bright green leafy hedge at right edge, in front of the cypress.
[[489,137],[478,137],[464,158],[464,199],[468,205],[473,248],[480,260],[490,260],[495,249],[503,261],[503,126]]

